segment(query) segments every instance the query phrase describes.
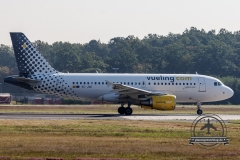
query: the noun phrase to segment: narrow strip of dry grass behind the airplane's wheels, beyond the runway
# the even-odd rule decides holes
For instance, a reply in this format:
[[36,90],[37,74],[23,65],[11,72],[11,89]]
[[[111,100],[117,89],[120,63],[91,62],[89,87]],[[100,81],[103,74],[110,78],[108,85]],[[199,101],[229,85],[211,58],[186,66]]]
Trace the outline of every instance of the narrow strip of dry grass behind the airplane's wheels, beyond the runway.
[[[117,114],[119,105],[0,105],[2,113]],[[196,114],[195,105],[177,105],[172,111],[132,106],[133,114]],[[204,113],[240,114],[239,105],[202,105]]]

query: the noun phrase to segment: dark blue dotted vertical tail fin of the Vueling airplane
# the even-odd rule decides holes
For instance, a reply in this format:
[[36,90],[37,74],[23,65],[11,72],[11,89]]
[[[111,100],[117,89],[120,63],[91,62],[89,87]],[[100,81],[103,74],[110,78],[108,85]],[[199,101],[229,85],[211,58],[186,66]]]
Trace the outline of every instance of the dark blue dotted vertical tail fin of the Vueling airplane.
[[20,77],[28,77],[31,74],[58,73],[23,33],[12,32],[10,35]]

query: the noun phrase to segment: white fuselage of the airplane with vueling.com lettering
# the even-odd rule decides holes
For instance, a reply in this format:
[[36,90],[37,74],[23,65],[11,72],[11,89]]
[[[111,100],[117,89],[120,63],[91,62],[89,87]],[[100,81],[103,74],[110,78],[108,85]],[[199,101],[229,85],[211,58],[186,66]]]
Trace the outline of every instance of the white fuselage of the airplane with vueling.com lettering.
[[[112,86],[107,81],[153,93],[172,94],[176,96],[177,102],[213,102],[230,98],[233,95],[232,89],[220,80],[197,74],[58,73],[48,75],[48,78],[52,84],[55,84],[52,87],[53,90],[50,90],[50,87],[36,90],[73,99],[118,102],[119,94],[113,92]],[[54,78],[56,81],[53,82]],[[50,82],[42,81],[41,85],[51,86],[48,84]],[[129,96],[137,99],[134,94],[129,94]]]

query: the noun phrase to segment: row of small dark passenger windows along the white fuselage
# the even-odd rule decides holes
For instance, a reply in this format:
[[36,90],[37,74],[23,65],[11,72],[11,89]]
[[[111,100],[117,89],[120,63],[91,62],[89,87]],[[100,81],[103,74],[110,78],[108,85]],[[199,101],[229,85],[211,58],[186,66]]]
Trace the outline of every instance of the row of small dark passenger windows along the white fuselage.
[[[115,83],[115,82],[113,82],[113,83]],[[144,82],[116,82],[117,84],[124,84],[124,85],[145,85],[145,83]],[[93,85],[93,84],[95,84],[95,85],[104,85],[104,84],[106,84],[107,85],[107,82],[73,82],[73,84],[83,84],[83,85]],[[151,85],[151,83],[150,82],[148,82],[147,83],[148,85]],[[154,83],[152,83],[153,85],[196,85],[196,83],[156,83],[156,82],[154,82]]]

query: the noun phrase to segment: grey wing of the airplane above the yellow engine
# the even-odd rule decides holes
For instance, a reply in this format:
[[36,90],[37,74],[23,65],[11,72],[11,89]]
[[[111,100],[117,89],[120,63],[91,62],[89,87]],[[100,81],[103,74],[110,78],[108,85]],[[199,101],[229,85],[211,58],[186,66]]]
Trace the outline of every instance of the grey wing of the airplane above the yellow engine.
[[[152,92],[140,88],[135,88],[132,86],[127,86],[119,83],[112,83],[107,81],[107,84],[113,87],[112,92],[116,92],[118,94],[122,95],[164,95],[165,93],[162,92]],[[145,97],[139,97],[139,98],[145,98]]]

